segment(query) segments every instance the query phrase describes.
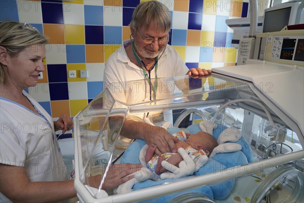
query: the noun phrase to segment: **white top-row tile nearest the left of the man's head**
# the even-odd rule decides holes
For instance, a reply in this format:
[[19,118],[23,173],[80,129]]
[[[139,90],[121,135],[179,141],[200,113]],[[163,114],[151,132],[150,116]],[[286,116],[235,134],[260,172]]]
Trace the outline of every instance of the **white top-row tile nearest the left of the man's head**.
[[123,26],[123,8],[115,6],[103,7],[103,23],[105,26]]

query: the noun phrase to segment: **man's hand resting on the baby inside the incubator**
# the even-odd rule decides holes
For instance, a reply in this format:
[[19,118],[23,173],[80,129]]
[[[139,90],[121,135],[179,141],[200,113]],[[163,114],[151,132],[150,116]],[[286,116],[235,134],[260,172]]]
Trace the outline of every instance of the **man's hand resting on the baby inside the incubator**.
[[[148,125],[148,124],[146,124]],[[161,155],[167,152],[176,153],[175,143],[179,140],[170,134],[165,128],[149,125],[150,129],[144,134],[144,141],[147,145],[156,145],[155,153]]]

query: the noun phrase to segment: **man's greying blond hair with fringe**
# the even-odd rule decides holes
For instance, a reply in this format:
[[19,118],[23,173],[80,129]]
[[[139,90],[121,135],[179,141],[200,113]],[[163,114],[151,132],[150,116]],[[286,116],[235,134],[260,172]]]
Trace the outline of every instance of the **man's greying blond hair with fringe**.
[[134,10],[129,25],[133,30],[154,26],[157,30],[169,32],[171,28],[171,16],[168,8],[157,1],[140,3]]

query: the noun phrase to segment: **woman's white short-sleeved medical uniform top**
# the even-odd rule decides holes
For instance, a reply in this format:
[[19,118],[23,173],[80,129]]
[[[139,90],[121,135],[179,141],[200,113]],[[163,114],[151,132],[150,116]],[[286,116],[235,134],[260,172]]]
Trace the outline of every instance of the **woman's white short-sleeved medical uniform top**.
[[[0,163],[21,166],[31,182],[68,180],[52,117],[29,94],[23,94],[40,114],[0,97]],[[9,201],[0,194],[0,202]]]

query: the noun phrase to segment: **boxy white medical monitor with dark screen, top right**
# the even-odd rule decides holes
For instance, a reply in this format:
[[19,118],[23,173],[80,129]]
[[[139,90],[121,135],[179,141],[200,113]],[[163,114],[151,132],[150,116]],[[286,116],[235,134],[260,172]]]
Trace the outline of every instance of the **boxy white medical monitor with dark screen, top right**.
[[286,25],[303,23],[303,1],[290,1],[264,11],[263,32],[281,31]]

